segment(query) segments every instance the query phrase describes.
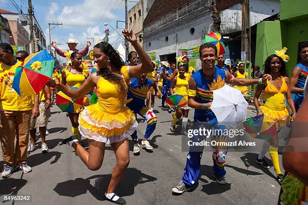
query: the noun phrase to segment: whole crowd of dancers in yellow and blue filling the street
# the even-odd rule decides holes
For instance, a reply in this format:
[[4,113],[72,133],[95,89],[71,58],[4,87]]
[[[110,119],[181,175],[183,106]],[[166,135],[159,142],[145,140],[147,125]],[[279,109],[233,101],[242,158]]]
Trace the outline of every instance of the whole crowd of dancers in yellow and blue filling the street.
[[[296,119],[297,111],[303,104],[304,85],[308,73],[307,42],[300,46],[302,61],[294,67],[290,78],[287,77],[285,67],[285,62],[288,60],[286,55],[276,52],[265,60],[263,72],[256,69],[255,77],[248,79],[244,69],[245,63],[240,62],[238,70],[228,68],[223,64],[223,55],[217,56],[217,48],[213,44],[205,43],[200,46],[202,69],[195,71],[189,67],[187,56],[178,58],[177,64],[171,62],[157,65],[156,62],[151,62],[137,42],[134,33],[131,30],[124,30],[122,33],[135,49],[129,53],[127,65],[109,43],[100,42],[93,49],[94,62],[98,69],[97,72],[91,73],[82,63],[82,57],[87,55],[91,43],[88,42],[84,50],[76,50],[76,43],[69,41],[67,68],[62,70],[61,75],[54,70],[53,79],[38,95],[32,97],[20,97],[12,87],[15,70],[28,54],[19,52],[13,56],[13,49],[9,44],[0,44],[0,139],[5,161],[3,177],[9,177],[17,169],[25,173],[32,170],[27,165],[27,151],[31,153],[38,148],[37,127],[42,138],[42,152],[48,152],[45,141],[46,128],[55,90],[74,99],[83,99],[83,107],[67,114],[72,126],[72,135],[64,139],[63,143],[71,146],[90,170],[98,170],[102,166],[106,144],[111,144],[114,149],[116,165],[105,197],[117,204],[126,203],[121,196],[114,193],[114,190],[129,164],[128,138],[131,137],[134,142],[133,153],[140,152],[136,115],[140,115],[147,123],[141,145],[145,149],[153,149],[149,139],[159,119],[159,116],[153,113],[156,98],[162,99],[162,110],[174,112],[170,116],[171,132],[176,132],[176,124],[182,118],[181,132],[184,135],[187,134],[190,109],[194,109],[193,120],[198,122],[194,124],[197,127],[193,129],[212,124],[217,129],[225,129],[224,126],[216,124],[217,118],[210,109],[213,90],[225,84],[234,85],[243,95],[248,93],[247,86],[257,85],[254,96],[257,115],[264,115],[265,121],[275,122],[278,131],[289,121]],[[57,53],[67,57],[66,52],[59,50],[55,43],[52,43],[52,46]],[[138,58],[141,61],[139,64]],[[90,104],[86,95],[94,89],[98,100],[97,103]],[[291,92],[295,93],[294,101]],[[260,104],[259,100],[261,93],[264,95],[263,104]],[[177,109],[166,108],[166,99],[173,94],[183,96],[188,104]],[[31,143],[28,145],[29,133]],[[88,139],[89,150],[85,149],[82,137]],[[193,140],[199,137],[193,136]],[[211,140],[215,139],[226,141],[227,136],[212,135]],[[265,168],[269,168],[264,160],[267,150],[276,171],[277,181],[279,184],[282,183],[283,188],[284,176],[278,161],[278,133],[268,142],[264,142],[256,159],[256,162]],[[198,181],[202,153],[203,147],[190,147],[182,179],[172,188],[173,192],[183,193]],[[212,175],[219,184],[226,184],[224,169],[226,155],[227,147],[212,147]],[[306,190],[304,185],[306,181],[294,173],[286,175],[289,178],[288,183],[293,180],[294,186]],[[300,200],[307,202],[307,196],[296,194],[293,189],[283,188],[280,199],[284,204]]]

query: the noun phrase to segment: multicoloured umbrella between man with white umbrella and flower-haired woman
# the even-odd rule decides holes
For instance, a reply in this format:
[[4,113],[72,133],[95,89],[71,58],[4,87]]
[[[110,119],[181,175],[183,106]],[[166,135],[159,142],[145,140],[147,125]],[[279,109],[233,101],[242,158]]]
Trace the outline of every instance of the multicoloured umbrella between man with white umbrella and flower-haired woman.
[[264,115],[248,118],[243,122],[244,130],[253,138],[269,140],[277,134],[275,122],[265,122]]

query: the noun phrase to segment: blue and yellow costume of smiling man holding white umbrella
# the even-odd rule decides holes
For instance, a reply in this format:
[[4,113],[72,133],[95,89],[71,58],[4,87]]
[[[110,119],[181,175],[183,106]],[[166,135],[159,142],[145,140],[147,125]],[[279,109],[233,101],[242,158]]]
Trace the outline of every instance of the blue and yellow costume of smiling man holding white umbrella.
[[[204,76],[202,69],[197,70],[191,78],[194,79],[197,89],[188,90],[188,95],[195,97],[195,101],[201,104],[206,104],[213,100],[213,90],[221,88],[225,81],[225,71],[220,68],[215,68],[215,74],[212,78],[208,79]],[[199,128],[209,127],[210,129],[225,130],[225,126],[217,124],[217,118],[215,114],[210,110],[195,109],[193,130]],[[202,141],[204,136],[194,135],[191,140],[193,142]],[[226,136],[211,135],[211,140],[218,142],[225,142]],[[202,146],[191,146],[187,155],[186,167],[184,170],[182,181],[188,185],[193,186],[198,181],[200,174],[200,161],[203,152]],[[225,146],[213,146],[212,147],[212,159],[213,159],[213,173],[217,177],[225,175],[225,156],[227,148]]]

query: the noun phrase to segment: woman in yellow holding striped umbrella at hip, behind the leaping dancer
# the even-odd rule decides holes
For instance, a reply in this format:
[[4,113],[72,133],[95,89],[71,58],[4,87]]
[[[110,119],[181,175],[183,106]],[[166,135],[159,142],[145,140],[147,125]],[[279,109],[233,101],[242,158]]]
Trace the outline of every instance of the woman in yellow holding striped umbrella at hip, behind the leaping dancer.
[[[80,53],[72,52],[70,54],[70,61],[71,65],[67,69],[62,70],[62,81],[63,85],[69,87],[77,87],[79,88],[87,79],[88,77],[88,70],[84,70],[82,65],[82,56]],[[84,106],[89,104],[89,99],[85,96],[84,97]],[[84,107],[79,108],[74,113],[68,113],[69,120],[71,122],[71,133],[73,135],[78,136],[78,141],[81,145],[83,145],[81,141],[81,135],[78,130],[78,117],[79,114],[83,111]],[[84,145],[83,145],[84,146]]]

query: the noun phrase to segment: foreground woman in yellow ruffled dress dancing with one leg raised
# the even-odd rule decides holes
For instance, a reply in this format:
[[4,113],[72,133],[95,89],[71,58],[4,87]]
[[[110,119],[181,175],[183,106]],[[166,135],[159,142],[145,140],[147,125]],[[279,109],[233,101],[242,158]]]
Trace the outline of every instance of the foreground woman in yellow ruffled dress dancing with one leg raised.
[[82,136],[88,138],[89,151],[85,150],[76,139],[71,136],[63,141],[72,146],[82,161],[91,170],[98,170],[102,166],[105,145],[111,144],[116,155],[117,163],[112,171],[111,180],[105,197],[117,204],[125,204],[125,200],[114,193],[114,190],[129,164],[129,146],[127,137],[132,134],[138,123],[135,115],[126,108],[127,83],[130,78],[148,72],[151,61],[137,42],[132,30],[123,30],[123,36],[137,51],[142,64],[125,66],[121,57],[107,42],[94,46],[94,61],[99,71],[92,73],[84,84],[77,90],[57,85],[49,81],[49,86],[58,88],[66,95],[78,99],[97,87],[98,102],[86,107],[80,114],[79,130]]

